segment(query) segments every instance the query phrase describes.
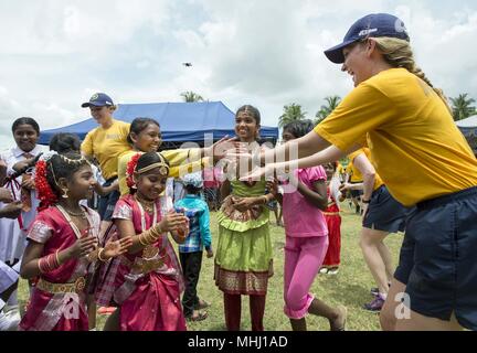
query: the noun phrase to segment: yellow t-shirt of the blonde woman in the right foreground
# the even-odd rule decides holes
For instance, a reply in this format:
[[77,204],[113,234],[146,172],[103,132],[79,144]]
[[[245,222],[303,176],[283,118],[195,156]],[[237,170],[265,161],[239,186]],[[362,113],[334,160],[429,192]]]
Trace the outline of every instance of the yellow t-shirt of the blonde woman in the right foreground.
[[315,131],[343,151],[367,136],[377,172],[405,206],[477,185],[477,160],[446,105],[405,68],[360,84]]

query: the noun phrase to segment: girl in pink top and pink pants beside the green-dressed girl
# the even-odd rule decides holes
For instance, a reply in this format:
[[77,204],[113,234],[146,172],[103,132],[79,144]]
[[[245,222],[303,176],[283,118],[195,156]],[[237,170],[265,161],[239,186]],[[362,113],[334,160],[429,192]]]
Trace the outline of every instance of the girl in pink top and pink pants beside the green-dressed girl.
[[[284,127],[283,139],[289,141],[311,131],[310,120],[294,121]],[[285,314],[294,331],[306,331],[307,313],[325,317],[332,331],[343,331],[344,307],[330,308],[309,289],[328,249],[328,228],[321,211],[328,206],[326,172],[322,167],[298,169],[284,185],[283,204],[285,222]],[[276,185],[269,185],[276,192]],[[321,210],[321,211],[320,211]]]

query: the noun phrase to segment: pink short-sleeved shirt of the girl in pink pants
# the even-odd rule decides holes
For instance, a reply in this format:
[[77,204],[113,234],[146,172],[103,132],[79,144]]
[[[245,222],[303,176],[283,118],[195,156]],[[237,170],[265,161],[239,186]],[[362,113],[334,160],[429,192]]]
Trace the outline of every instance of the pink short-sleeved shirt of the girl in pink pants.
[[[298,169],[295,176],[309,189],[317,181],[326,181],[325,169],[312,167]],[[317,237],[327,236],[328,227],[322,212],[306,201],[295,186],[284,185],[283,217],[285,222],[285,233],[290,237]]]

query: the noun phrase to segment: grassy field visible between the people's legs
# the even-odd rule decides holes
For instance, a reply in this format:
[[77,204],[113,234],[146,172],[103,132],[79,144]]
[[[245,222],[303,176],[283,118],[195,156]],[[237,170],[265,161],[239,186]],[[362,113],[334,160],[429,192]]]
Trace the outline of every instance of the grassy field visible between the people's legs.
[[[362,309],[364,302],[372,298],[370,288],[375,287],[359,248],[360,217],[348,207],[342,206],[342,249],[341,267],[336,276],[319,275],[311,288],[311,292],[331,306],[343,304],[348,308],[348,330],[351,331],[375,331],[380,330],[378,314],[367,312]],[[274,270],[275,275],[268,284],[268,295],[265,309],[265,329],[267,331],[289,331],[290,325],[287,317],[283,313],[283,265],[284,265],[284,228],[275,226],[275,217],[272,217],[272,243],[274,246]],[[216,244],[219,237],[215,214],[211,215],[211,229],[213,242]],[[386,244],[390,247],[394,264],[398,264],[399,248],[402,235],[390,235]],[[199,296],[211,302],[208,309],[209,318],[202,322],[188,322],[191,331],[222,331],[225,330],[222,292],[218,290],[213,281],[213,259],[203,257],[201,278],[198,286]],[[28,288],[21,281],[19,299],[24,303],[28,297]],[[98,315],[98,329],[103,328],[106,317]],[[329,324],[326,319],[308,317],[308,330],[327,331]],[[250,330],[248,300],[243,298],[242,303],[242,329]]]

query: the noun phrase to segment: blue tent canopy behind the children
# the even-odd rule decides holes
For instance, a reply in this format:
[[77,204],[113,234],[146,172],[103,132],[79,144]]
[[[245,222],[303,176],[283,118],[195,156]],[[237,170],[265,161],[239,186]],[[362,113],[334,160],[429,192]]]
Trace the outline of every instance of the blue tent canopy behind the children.
[[[222,101],[121,104],[114,113],[118,120],[131,122],[135,118],[153,118],[161,126],[165,142],[203,142],[204,133],[214,140],[235,136],[235,115]],[[41,132],[40,145],[49,145],[59,132],[76,133],[82,140],[98,125],[93,119]],[[277,140],[278,128],[262,127],[264,139]]]

